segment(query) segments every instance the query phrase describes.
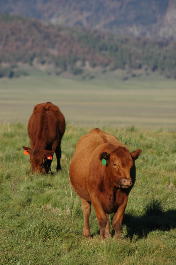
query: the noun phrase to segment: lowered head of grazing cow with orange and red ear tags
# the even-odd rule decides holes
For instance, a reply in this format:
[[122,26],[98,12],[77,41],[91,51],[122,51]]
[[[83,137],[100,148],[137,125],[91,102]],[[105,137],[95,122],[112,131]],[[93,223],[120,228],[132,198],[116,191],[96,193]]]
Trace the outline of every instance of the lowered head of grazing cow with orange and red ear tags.
[[49,150],[35,150],[29,147],[23,146],[25,154],[30,155],[31,169],[33,172],[44,174],[47,169],[47,159],[52,159],[54,151]]

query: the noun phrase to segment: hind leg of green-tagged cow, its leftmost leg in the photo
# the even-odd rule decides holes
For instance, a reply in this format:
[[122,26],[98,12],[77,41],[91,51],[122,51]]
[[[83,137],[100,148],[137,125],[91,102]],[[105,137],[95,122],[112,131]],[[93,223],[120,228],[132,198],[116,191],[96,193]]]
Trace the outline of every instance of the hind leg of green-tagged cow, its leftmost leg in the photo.
[[89,217],[91,211],[91,202],[87,202],[82,199],[82,212],[84,215],[84,228],[83,228],[83,237],[90,237],[90,226],[89,226]]

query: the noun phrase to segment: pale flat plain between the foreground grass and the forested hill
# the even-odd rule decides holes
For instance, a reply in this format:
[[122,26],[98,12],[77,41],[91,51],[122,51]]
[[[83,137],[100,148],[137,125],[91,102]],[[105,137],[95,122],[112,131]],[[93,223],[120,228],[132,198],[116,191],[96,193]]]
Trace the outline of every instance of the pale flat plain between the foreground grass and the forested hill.
[[92,80],[36,72],[0,81],[0,123],[27,123],[33,107],[51,101],[68,124],[175,130],[176,81],[163,78]]

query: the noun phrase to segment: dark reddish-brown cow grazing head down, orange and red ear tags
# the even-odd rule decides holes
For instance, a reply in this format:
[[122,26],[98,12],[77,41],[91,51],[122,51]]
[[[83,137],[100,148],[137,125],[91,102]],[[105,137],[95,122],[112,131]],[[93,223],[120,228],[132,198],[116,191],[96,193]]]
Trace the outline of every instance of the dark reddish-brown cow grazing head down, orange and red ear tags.
[[57,168],[61,170],[61,139],[65,132],[65,118],[60,109],[47,102],[34,107],[28,121],[28,135],[31,148],[23,146],[24,153],[30,153],[31,169],[38,173],[50,172],[53,154],[57,157]]

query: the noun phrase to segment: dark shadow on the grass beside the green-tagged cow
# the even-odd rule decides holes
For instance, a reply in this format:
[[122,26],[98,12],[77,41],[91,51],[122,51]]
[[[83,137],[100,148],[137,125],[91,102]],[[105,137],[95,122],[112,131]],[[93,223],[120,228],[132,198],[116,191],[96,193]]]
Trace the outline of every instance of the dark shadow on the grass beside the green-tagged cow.
[[176,210],[164,212],[161,202],[154,199],[144,207],[143,215],[124,214],[123,224],[127,228],[126,238],[132,238],[134,235],[144,238],[155,230],[168,231],[175,228]]

